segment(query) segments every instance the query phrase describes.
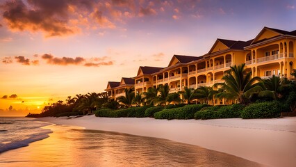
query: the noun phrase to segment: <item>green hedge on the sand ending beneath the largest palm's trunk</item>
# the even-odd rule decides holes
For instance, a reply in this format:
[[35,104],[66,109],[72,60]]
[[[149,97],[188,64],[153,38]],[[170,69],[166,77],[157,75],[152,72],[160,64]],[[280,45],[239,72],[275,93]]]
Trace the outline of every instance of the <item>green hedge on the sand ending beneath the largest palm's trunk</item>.
[[219,118],[240,118],[240,114],[245,106],[241,104],[232,104],[229,106],[210,106],[197,111],[195,119],[208,120]]

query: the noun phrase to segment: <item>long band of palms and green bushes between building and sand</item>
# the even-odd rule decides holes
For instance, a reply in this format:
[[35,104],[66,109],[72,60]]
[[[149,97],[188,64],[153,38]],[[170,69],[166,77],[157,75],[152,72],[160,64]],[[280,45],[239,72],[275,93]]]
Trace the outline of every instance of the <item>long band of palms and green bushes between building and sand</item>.
[[[296,70],[293,70],[292,74],[296,75]],[[59,100],[44,106],[42,113],[29,113],[28,117],[95,113],[101,117],[155,117],[172,120],[277,118],[283,111],[296,112],[295,81],[276,76],[261,80],[251,76],[251,72],[245,70],[244,64],[234,65],[222,77],[224,83],[214,84],[213,87],[200,86],[197,89],[184,87],[181,92],[170,93],[170,87],[165,84],[136,94],[133,88],[129,88],[124,90],[125,96],[117,97],[117,100],[108,99],[106,93],[79,94],[75,97],[68,96],[65,103]],[[233,104],[208,105],[213,105],[214,100],[222,98]],[[191,104],[192,102],[199,104]]]

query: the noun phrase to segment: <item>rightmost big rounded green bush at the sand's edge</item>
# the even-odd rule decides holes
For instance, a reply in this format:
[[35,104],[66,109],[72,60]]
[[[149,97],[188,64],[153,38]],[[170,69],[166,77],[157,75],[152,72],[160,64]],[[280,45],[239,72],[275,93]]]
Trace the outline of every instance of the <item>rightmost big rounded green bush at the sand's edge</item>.
[[252,118],[278,118],[281,116],[281,112],[285,111],[285,105],[281,102],[262,102],[256,104],[250,104],[245,107],[242,111],[241,117],[243,119],[252,119]]

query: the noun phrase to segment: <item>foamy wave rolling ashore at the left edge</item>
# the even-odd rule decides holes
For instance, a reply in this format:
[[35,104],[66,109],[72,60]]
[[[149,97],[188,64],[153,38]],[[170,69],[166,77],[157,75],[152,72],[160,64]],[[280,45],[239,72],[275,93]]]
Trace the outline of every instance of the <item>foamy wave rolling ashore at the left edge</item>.
[[34,141],[40,141],[44,138],[48,138],[50,133],[52,133],[52,131],[48,129],[47,131],[40,132],[38,134],[33,134],[31,137],[21,141],[13,141],[11,143],[0,143],[0,153],[28,146],[29,143],[32,143]]

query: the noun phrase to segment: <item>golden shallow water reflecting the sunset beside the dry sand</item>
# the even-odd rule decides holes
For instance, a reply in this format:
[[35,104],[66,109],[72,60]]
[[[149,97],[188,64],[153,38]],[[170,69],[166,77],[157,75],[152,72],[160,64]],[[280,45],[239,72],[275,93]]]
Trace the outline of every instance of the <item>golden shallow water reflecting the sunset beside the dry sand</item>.
[[[1,121],[3,122],[3,120]],[[26,137],[30,138],[31,136],[38,136],[38,134],[46,134],[49,137],[29,143],[28,147],[0,153],[1,167],[261,166],[253,161],[248,161],[230,154],[161,138],[85,130],[80,127],[69,127],[65,125],[47,125],[47,123],[34,122],[34,120],[28,119],[24,120],[24,123],[19,121],[15,120],[12,124],[23,125],[20,127],[24,129],[32,127],[31,131],[28,130],[27,133],[19,135],[25,136],[22,137],[23,141],[26,140],[24,139]],[[42,125],[46,126],[40,128]],[[2,126],[0,129],[6,130]],[[10,136],[9,133],[9,129],[3,131],[3,133],[1,132],[1,141],[3,141],[2,134],[8,137]],[[9,140],[13,141],[15,139],[10,138]]]

